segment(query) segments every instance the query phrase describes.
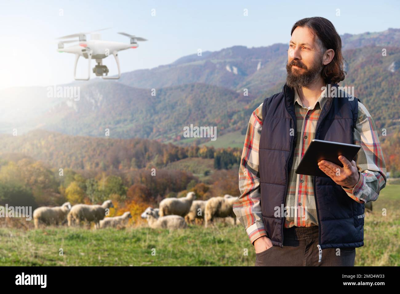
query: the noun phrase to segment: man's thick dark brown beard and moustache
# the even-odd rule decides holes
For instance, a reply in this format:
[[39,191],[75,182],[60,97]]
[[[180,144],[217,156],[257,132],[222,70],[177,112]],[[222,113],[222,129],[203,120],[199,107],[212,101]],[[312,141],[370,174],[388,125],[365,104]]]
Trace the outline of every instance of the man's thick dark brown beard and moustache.
[[[292,66],[298,66],[304,70],[296,68],[292,71]],[[320,60],[317,60],[312,64],[310,69],[302,62],[292,60],[290,63],[286,64],[286,71],[288,72],[288,75],[286,76],[286,84],[292,88],[306,87],[320,76],[322,68],[323,65],[320,63]]]

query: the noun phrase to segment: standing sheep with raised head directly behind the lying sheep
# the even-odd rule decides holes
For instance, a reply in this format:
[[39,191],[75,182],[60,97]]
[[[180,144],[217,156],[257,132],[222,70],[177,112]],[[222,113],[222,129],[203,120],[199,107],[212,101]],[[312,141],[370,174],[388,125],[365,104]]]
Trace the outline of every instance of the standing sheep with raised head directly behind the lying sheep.
[[196,199],[194,192],[189,192],[186,197],[181,198],[165,198],[160,202],[159,215],[164,217],[166,215],[180,215],[184,217],[190,211],[193,200]]

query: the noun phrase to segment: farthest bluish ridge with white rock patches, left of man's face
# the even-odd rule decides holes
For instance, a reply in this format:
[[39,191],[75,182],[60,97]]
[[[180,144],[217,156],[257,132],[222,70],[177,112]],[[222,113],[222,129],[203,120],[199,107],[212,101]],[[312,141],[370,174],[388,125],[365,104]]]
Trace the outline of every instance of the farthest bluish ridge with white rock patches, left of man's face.
[[160,88],[187,83],[206,83],[255,95],[286,76],[287,45],[247,48],[233,46],[204,56],[185,56],[151,70],[122,74],[120,83],[139,88]]

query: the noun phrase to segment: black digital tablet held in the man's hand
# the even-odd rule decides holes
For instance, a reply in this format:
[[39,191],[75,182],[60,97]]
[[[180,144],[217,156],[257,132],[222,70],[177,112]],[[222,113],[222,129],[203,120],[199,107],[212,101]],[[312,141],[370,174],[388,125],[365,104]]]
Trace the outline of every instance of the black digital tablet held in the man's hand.
[[343,164],[338,159],[339,155],[343,155],[351,162],[360,148],[361,146],[359,145],[314,139],[300,161],[296,173],[329,178],[328,175],[320,170],[318,162],[326,160],[343,167]]

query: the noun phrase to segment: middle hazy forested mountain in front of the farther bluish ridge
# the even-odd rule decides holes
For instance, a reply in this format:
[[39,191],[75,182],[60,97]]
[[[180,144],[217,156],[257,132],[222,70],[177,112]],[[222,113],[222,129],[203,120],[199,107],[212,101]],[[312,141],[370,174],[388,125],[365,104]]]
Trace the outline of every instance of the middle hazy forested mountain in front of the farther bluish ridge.
[[[184,127],[230,126],[230,118],[255,97],[207,84],[138,89],[95,81],[80,88],[80,99],[68,99],[30,123],[70,135],[174,140]],[[23,129],[24,127],[21,126]],[[210,140],[210,139],[208,139]]]

